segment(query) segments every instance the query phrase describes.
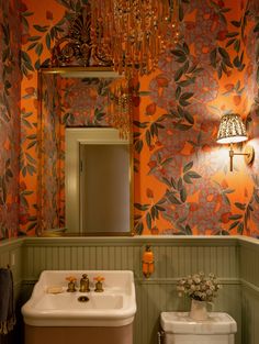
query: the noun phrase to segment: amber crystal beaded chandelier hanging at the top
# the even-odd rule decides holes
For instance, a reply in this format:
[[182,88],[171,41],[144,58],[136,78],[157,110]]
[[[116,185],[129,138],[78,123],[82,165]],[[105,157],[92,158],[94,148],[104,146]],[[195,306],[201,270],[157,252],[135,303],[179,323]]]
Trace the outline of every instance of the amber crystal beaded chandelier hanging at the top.
[[179,36],[179,0],[92,0],[91,43],[126,77],[148,75]]

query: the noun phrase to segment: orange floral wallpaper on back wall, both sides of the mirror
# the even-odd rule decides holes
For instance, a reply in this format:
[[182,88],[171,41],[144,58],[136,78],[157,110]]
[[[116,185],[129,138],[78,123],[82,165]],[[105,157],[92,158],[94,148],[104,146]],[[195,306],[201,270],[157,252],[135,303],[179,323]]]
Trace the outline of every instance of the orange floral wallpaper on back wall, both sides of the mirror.
[[[88,1],[25,0],[21,7],[20,233],[37,228],[37,69],[55,37]],[[259,236],[258,45],[259,4],[181,0],[181,41],[159,69],[133,82],[137,234],[248,234]],[[256,160],[216,144],[221,115],[246,121]],[[237,147],[238,148],[238,147]]]

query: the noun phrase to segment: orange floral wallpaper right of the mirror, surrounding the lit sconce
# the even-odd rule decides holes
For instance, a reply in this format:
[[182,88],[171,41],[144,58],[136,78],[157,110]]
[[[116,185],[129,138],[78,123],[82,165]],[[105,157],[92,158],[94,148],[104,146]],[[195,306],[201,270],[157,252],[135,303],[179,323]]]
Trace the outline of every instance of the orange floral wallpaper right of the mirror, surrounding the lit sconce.
[[[216,144],[219,118],[238,112],[257,149],[257,1],[182,1],[182,41],[142,82],[136,230],[258,235],[258,163]],[[258,54],[258,53],[257,53]]]

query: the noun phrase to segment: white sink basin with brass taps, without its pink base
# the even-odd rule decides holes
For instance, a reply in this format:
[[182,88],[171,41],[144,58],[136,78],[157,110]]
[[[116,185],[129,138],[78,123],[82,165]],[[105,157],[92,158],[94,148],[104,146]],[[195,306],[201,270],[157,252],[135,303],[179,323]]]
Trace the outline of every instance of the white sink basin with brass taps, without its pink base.
[[[66,277],[75,276],[79,284],[86,273],[91,291],[67,292]],[[104,277],[103,292],[94,291],[95,276]],[[49,293],[54,286],[60,292]],[[128,270],[45,270],[22,307],[24,322],[32,326],[124,326],[135,313],[134,277]]]

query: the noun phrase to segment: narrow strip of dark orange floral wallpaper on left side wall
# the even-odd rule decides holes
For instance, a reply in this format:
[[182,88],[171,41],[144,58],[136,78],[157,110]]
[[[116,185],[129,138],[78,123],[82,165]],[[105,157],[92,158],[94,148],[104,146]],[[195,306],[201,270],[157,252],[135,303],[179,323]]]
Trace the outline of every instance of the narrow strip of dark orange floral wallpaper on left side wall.
[[20,153],[20,1],[0,1],[0,240],[18,235]]

